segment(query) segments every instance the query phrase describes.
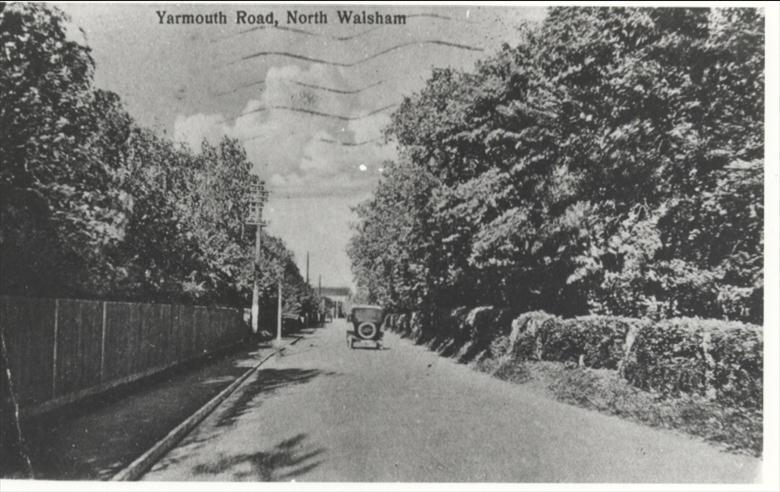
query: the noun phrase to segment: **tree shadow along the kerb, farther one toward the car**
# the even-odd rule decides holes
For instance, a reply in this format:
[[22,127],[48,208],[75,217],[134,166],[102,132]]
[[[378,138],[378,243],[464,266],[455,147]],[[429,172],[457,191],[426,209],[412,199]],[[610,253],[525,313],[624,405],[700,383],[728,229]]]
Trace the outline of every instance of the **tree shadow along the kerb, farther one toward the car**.
[[318,369],[263,369],[241,388],[239,396],[220,415],[217,427],[233,425],[248,410],[256,408],[252,401],[261,394],[272,394],[281,388],[305,384],[317,376],[334,376],[334,372]]

